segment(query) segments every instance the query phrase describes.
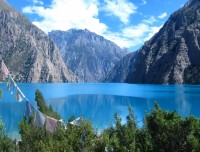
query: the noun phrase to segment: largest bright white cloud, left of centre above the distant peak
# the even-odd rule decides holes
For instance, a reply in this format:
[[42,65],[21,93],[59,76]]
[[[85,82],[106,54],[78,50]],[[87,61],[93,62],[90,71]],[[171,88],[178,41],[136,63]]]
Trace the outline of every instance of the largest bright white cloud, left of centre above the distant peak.
[[68,30],[70,28],[89,29],[97,34],[107,30],[107,26],[98,17],[96,0],[53,0],[49,8],[27,6],[24,13],[37,14],[42,18],[33,23],[45,32]]

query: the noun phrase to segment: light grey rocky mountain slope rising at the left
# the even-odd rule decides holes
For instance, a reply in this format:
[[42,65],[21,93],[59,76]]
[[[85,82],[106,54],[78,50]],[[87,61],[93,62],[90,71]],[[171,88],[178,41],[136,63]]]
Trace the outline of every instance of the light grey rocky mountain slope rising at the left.
[[0,59],[20,82],[75,82],[53,41],[0,0]]

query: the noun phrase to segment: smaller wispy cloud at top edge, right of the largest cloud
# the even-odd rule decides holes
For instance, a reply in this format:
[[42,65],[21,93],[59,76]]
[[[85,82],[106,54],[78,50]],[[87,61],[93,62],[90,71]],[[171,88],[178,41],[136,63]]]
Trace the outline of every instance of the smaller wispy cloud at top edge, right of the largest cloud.
[[131,14],[136,13],[137,7],[127,0],[104,0],[106,5],[103,10],[108,15],[114,15],[120,19],[124,24],[129,23]]

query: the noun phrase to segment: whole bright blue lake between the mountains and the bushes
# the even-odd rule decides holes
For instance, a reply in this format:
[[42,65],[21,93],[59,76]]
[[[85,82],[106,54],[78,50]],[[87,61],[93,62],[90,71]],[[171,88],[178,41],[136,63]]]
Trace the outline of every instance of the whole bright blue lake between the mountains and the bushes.
[[[119,83],[54,83],[24,84],[19,88],[35,106],[35,90],[40,89],[46,103],[53,106],[64,120],[71,115],[83,116],[93,123],[98,131],[114,123],[114,114],[126,121],[130,104],[142,126],[145,111],[150,112],[154,102],[161,108],[177,111],[183,117],[200,117],[200,85],[136,85]],[[1,83],[3,96],[0,100],[0,117],[5,124],[6,134],[11,138],[20,138],[18,123],[22,119],[25,102],[17,102],[15,95],[6,90]]]

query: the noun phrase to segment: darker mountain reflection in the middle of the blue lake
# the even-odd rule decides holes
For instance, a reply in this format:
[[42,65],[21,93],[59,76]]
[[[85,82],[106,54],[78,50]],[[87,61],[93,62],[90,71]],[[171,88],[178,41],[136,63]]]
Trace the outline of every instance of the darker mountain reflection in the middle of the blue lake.
[[111,95],[73,95],[65,98],[48,99],[46,102],[51,104],[54,110],[59,112],[65,120],[68,120],[71,115],[76,117],[82,115],[99,130],[114,123],[115,113],[118,113],[122,122],[125,122],[129,104],[133,106],[140,121],[144,116],[142,111],[147,109],[146,104],[140,106],[146,102],[144,98]]

